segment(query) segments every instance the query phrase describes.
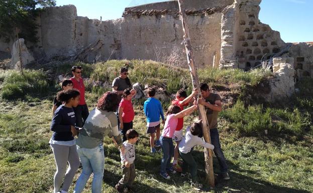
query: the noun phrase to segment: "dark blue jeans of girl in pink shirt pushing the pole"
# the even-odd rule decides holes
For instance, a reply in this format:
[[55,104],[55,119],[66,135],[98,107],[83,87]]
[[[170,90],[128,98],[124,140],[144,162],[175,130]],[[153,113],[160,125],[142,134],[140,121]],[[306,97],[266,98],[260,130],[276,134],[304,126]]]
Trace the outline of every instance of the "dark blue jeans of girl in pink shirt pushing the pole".
[[163,151],[163,157],[161,161],[161,173],[166,173],[166,169],[171,167],[171,158],[174,154],[174,146],[172,138],[160,137],[161,148]]

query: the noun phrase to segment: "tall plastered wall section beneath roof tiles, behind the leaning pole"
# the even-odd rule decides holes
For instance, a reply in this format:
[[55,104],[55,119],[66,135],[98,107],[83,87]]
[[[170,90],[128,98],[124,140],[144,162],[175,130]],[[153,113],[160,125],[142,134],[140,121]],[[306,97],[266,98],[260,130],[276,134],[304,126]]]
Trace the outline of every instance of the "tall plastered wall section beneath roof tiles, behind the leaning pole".
[[[187,16],[195,63],[198,67],[212,66],[213,59],[220,60],[221,14],[210,16]],[[151,59],[162,61],[183,53],[181,21],[171,15],[129,16],[122,24],[122,57],[127,59]],[[180,55],[185,59],[185,54]],[[186,60],[180,66],[187,67]]]

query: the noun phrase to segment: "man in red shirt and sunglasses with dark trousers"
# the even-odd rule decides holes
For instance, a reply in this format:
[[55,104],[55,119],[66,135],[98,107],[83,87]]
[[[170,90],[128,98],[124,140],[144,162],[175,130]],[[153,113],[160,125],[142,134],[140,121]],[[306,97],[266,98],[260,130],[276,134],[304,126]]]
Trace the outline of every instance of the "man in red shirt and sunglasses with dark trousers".
[[82,69],[81,66],[73,66],[73,77],[70,80],[73,82],[73,88],[79,90],[80,101],[77,107],[73,108],[76,116],[76,126],[82,127],[89,115],[88,107],[85,101],[85,85],[81,78]]

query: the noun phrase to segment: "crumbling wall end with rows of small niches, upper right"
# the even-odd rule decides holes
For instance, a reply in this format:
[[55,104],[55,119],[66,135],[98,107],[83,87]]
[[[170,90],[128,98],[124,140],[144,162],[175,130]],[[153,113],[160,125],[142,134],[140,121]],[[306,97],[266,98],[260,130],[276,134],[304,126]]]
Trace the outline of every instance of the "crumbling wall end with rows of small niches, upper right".
[[[285,45],[279,32],[273,31],[258,19],[260,3],[261,0],[238,0],[229,8],[236,12],[235,17],[227,15],[230,11],[224,12],[224,20],[235,18],[232,25],[229,24],[228,28],[222,29],[222,35],[233,32],[233,37],[226,36],[231,40],[224,40],[225,36],[222,36],[222,42],[227,42],[234,53],[231,56],[229,49],[222,50],[222,66],[236,61],[232,63],[235,68],[248,70],[261,64],[262,59],[269,59],[271,55],[280,52],[281,47]],[[226,57],[223,57],[224,55]]]

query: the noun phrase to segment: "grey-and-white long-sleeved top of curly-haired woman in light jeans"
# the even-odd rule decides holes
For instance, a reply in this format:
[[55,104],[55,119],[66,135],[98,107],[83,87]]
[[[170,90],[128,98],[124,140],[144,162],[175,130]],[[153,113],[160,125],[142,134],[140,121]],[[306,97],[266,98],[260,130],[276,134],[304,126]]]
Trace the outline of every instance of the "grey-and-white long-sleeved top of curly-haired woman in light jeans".
[[116,114],[95,108],[90,111],[83,128],[79,131],[76,145],[92,149],[101,144],[106,135],[110,138],[113,136],[118,145],[122,145]]

